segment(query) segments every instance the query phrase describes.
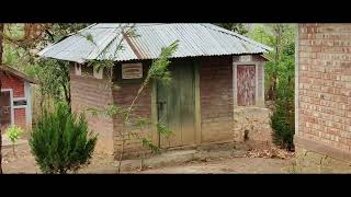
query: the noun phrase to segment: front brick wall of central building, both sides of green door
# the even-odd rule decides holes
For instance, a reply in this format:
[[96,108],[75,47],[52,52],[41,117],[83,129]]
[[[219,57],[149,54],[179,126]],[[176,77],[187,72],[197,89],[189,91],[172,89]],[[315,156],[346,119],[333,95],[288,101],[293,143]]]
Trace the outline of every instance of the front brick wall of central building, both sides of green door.
[[[233,58],[208,57],[201,58],[200,63],[200,97],[202,142],[220,142],[231,140],[233,136]],[[132,103],[140,83],[118,83],[118,91],[113,91],[116,104],[127,106]],[[134,111],[134,117],[151,119],[151,88],[146,89],[139,96]],[[114,120],[115,152],[121,150],[122,120]],[[150,128],[134,132],[150,135]],[[140,136],[143,136],[140,135]],[[125,149],[136,151],[140,148],[140,140],[126,137]]]

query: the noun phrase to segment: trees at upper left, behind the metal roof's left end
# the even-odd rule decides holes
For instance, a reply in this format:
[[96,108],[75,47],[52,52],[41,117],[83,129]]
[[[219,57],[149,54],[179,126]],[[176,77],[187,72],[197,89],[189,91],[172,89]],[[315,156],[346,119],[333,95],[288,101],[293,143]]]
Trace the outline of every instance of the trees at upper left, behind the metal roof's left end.
[[43,96],[49,95],[70,103],[68,62],[37,59],[35,54],[47,44],[58,42],[88,25],[89,23],[7,24],[4,62],[35,78]]

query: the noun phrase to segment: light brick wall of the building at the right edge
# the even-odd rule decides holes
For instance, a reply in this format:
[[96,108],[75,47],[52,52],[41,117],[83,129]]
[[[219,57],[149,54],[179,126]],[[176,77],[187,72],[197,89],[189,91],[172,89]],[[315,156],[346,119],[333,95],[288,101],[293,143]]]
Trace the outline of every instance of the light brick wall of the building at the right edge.
[[298,130],[295,137],[348,154],[351,153],[350,51],[351,24],[298,25]]

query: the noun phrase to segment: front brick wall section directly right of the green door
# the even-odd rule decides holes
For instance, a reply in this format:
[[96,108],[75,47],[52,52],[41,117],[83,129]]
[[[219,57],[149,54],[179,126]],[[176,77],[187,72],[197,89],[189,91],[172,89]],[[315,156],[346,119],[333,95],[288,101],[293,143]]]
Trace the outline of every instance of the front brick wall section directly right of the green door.
[[201,61],[200,100],[202,142],[231,140],[233,57],[212,57]]

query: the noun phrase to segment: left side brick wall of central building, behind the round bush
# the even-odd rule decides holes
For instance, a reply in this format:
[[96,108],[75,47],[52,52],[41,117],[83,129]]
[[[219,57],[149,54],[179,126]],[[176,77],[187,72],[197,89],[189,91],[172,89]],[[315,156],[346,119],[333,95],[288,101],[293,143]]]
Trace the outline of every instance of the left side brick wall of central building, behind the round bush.
[[[82,67],[82,73],[92,73],[87,70],[92,69]],[[112,104],[112,91],[105,80],[99,80],[91,74],[76,76],[75,67],[70,69],[70,91],[72,112],[84,112],[87,115],[89,129],[99,134],[95,151],[113,153],[113,120],[106,116],[92,116],[87,113],[88,108],[104,109]]]

